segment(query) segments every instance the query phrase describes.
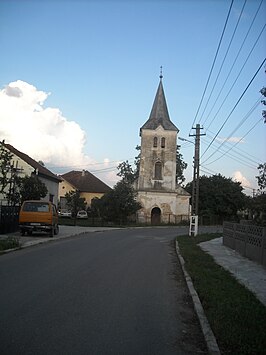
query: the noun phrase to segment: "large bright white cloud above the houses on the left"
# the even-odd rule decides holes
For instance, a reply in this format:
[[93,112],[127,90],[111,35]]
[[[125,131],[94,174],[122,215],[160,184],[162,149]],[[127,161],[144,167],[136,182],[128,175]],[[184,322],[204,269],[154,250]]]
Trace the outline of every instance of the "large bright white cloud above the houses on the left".
[[[0,140],[42,160],[54,173],[89,170],[96,162],[84,153],[86,133],[58,108],[44,107],[48,95],[21,80],[0,90]],[[104,167],[109,163],[105,159]],[[110,171],[99,178],[109,185],[117,181]]]

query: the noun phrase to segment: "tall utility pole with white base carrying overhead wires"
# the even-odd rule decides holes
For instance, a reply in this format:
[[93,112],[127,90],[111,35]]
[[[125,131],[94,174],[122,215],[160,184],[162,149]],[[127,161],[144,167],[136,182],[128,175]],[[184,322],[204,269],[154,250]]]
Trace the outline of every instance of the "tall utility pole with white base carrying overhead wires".
[[197,124],[196,134],[190,134],[190,137],[195,137],[195,153],[194,153],[194,169],[193,169],[193,184],[192,184],[192,208],[190,218],[189,235],[196,237],[198,234],[198,216],[199,216],[199,166],[200,166],[200,136],[205,136],[205,133],[200,133],[203,129],[200,124]]

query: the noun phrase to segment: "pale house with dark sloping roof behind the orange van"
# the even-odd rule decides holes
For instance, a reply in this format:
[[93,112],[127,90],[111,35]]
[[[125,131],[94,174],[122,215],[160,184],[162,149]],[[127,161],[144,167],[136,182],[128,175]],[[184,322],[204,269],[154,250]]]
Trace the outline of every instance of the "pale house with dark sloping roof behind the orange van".
[[[36,160],[29,157],[27,154],[20,152],[14,148],[11,144],[4,143],[6,149],[8,149],[13,157],[11,164],[15,172],[20,177],[35,175],[45,184],[48,193],[42,199],[43,201],[51,201],[55,204],[58,202],[58,185],[61,178],[53,174],[45,166],[38,163]],[[3,196],[0,196],[1,203],[6,204]]]

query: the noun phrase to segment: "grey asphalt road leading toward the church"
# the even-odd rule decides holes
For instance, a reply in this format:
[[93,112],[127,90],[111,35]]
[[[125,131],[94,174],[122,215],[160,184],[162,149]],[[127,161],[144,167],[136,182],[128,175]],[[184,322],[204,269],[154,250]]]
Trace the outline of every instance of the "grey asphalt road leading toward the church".
[[206,354],[176,235],[89,233],[0,256],[0,354]]

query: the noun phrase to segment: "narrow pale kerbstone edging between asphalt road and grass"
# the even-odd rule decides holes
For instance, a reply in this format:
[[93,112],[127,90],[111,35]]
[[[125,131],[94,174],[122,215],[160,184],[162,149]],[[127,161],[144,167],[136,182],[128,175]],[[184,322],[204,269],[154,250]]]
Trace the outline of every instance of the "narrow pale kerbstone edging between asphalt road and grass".
[[184,274],[184,277],[185,277],[185,280],[187,283],[187,287],[189,289],[190,295],[193,300],[194,309],[197,313],[197,316],[198,316],[198,319],[200,322],[200,326],[202,329],[202,333],[204,335],[204,338],[205,338],[205,341],[207,344],[209,354],[210,355],[220,355],[221,353],[220,353],[220,349],[218,347],[216,338],[215,338],[213,331],[210,327],[208,319],[204,313],[204,310],[203,310],[202,304],[200,302],[199,296],[197,294],[197,291],[195,290],[195,288],[193,286],[193,282],[192,282],[192,280],[185,268],[185,261],[184,261],[182,255],[180,254],[179,245],[178,245],[177,241],[176,241],[176,254],[177,254],[178,259],[180,261],[181,268],[182,268],[182,271],[183,271],[183,274]]

